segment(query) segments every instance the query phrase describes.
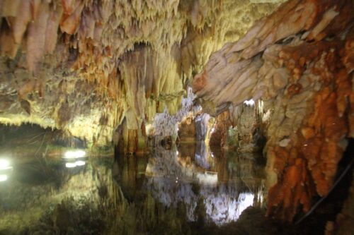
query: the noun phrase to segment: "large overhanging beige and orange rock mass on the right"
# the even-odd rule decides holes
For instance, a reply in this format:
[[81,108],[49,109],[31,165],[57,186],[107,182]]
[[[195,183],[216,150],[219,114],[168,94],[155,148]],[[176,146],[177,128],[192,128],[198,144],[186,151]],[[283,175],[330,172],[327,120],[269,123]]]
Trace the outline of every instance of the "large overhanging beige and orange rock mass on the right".
[[325,196],[353,138],[353,1],[287,1],[225,44],[195,76],[193,91],[217,115],[245,100],[270,112],[268,215],[292,220]]

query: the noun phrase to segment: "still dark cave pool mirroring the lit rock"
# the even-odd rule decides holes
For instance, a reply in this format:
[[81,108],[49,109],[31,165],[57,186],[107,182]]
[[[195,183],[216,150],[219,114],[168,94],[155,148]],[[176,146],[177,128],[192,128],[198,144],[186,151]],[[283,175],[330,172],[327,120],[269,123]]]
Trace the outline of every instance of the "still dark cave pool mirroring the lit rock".
[[0,182],[0,234],[219,234],[262,207],[258,157],[198,144],[74,164],[13,161]]

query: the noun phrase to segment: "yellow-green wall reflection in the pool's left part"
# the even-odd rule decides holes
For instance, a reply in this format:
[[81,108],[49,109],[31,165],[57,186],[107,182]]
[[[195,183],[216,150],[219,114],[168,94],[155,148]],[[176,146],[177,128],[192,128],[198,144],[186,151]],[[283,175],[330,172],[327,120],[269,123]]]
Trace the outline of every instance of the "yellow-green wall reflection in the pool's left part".
[[11,178],[0,183],[0,234],[98,234],[97,207],[115,198],[112,190],[102,194],[114,184],[113,160],[99,161],[74,169],[61,160],[13,162]]

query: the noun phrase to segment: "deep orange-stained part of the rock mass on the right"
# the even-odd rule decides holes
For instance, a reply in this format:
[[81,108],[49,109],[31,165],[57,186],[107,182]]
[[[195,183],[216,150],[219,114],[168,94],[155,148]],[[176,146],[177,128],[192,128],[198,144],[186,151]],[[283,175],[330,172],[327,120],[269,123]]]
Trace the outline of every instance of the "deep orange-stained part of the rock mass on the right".
[[[285,48],[280,54],[282,59],[287,59],[285,65],[289,66],[292,61],[292,68],[303,68],[303,63],[317,64],[311,73],[321,81],[321,89],[310,101],[312,110],[297,131],[297,143],[268,148],[268,155],[275,156],[278,183],[270,188],[267,213],[278,214],[276,208],[281,207],[278,216],[291,220],[300,204],[307,212],[312,196],[327,195],[333,185],[337,164],[347,146],[346,138],[353,137],[350,130],[353,126],[350,117],[354,114],[350,102],[353,73],[348,73],[350,68],[343,64],[343,54],[346,54],[343,42],[305,43]],[[296,71],[294,77],[303,75],[301,69]],[[294,95],[296,92],[289,88],[287,94]]]

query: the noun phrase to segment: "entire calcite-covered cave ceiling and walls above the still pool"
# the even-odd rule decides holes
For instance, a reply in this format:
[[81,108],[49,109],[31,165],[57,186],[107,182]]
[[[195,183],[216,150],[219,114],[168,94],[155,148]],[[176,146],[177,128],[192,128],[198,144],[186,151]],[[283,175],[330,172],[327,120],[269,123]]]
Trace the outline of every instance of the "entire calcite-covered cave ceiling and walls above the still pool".
[[354,137],[353,9],[352,0],[3,0],[0,124],[35,123],[124,153],[174,142],[186,118],[202,119],[197,139],[217,147],[228,131],[240,152],[261,150],[265,136],[267,215],[292,221],[331,191]]

